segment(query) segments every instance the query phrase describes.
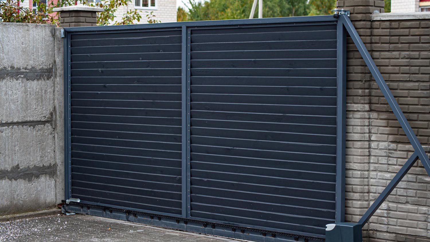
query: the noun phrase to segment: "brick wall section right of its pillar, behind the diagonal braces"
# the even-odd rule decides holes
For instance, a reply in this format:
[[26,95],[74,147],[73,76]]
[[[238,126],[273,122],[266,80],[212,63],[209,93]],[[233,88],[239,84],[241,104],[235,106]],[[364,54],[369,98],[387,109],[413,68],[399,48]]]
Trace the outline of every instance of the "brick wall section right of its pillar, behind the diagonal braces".
[[[430,149],[430,15],[372,21],[372,56],[418,139]],[[412,17],[413,18],[413,17]],[[413,149],[375,82],[370,89],[370,201]],[[430,241],[430,178],[420,162],[372,217],[370,241]]]

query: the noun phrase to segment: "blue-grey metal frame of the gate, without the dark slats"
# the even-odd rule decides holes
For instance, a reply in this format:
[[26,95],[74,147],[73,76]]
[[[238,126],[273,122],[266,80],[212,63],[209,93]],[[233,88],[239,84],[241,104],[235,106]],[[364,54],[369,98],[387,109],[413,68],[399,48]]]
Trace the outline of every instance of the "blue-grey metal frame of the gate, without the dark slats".
[[[296,231],[284,230],[273,232],[267,227],[250,227],[249,225],[223,224],[222,221],[201,221],[199,218],[190,217],[190,30],[193,28],[231,28],[238,25],[273,25],[289,24],[294,26],[309,24],[326,24],[331,22],[337,24],[337,137],[336,137],[336,209],[335,222],[344,222],[345,207],[345,106],[346,106],[346,31],[343,24],[333,15],[304,16],[288,18],[262,18],[262,19],[239,19],[239,20],[217,20],[217,21],[193,21],[175,22],[145,25],[121,25],[121,26],[95,26],[64,28],[64,188],[67,201],[66,210],[83,214],[93,214],[102,217],[114,217],[117,219],[136,221],[139,214],[146,216],[139,220],[140,223],[159,225],[163,227],[178,228],[181,230],[210,233],[234,238],[266,241],[273,238],[281,241],[283,238],[292,241],[292,238],[310,239],[311,241],[324,240],[324,236]],[[182,216],[177,214],[154,213],[154,211],[138,210],[126,207],[111,206],[94,202],[79,202],[71,199],[71,34],[89,34],[95,32],[131,32],[139,29],[150,28],[177,28],[182,31]],[[86,208],[84,208],[86,207]],[[91,209],[90,209],[91,207]],[[90,211],[91,210],[91,211]],[[107,211],[110,211],[110,214]],[[131,216],[133,214],[134,216]],[[154,219],[158,217],[158,220]],[[149,218],[149,220],[148,220]],[[174,223],[172,221],[175,221]],[[180,224],[183,221],[184,224]],[[200,224],[198,229],[192,228],[191,224]],[[188,224],[188,227],[187,227]],[[204,232],[202,232],[203,224]],[[206,227],[212,224],[212,230]],[[184,227],[184,226],[185,227]],[[221,228],[221,229],[219,229]],[[226,229],[228,228],[228,229]],[[227,230],[228,233],[226,232]],[[273,229],[272,229],[273,230]],[[240,232],[239,232],[240,231]],[[246,233],[245,233],[246,231]],[[239,235],[237,235],[239,234]],[[248,237],[246,237],[248,234]],[[272,236],[266,236],[272,234]],[[242,236],[240,236],[242,235]],[[279,236],[276,236],[279,235]],[[301,240],[301,239],[300,239]]]

